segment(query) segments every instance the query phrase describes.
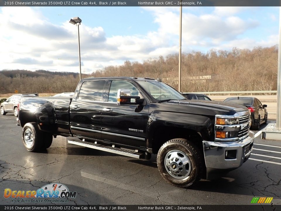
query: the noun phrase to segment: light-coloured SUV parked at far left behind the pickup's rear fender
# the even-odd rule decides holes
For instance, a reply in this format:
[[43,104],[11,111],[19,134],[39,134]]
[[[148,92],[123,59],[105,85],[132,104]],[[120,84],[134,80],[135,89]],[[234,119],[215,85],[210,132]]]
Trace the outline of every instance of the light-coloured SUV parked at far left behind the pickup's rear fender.
[[18,116],[18,103],[21,96],[38,96],[38,93],[30,94],[15,94],[0,104],[1,115],[6,115],[8,112],[13,112],[15,116]]

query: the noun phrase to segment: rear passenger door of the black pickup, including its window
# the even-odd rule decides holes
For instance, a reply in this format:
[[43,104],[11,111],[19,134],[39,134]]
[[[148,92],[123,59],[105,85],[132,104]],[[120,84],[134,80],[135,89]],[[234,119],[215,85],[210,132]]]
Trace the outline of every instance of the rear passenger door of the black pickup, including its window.
[[[106,80],[85,80],[70,105],[70,129],[74,135],[101,139],[101,109]],[[79,88],[78,88],[79,89]]]

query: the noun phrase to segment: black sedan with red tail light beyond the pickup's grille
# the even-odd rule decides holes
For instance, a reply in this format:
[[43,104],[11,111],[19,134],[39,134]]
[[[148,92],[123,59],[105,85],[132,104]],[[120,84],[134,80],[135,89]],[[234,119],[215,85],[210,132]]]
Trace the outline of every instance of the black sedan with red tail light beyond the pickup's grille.
[[257,98],[254,97],[232,97],[226,98],[224,103],[235,103],[246,106],[251,112],[251,127],[259,130],[260,124],[267,123],[267,105],[261,104]]

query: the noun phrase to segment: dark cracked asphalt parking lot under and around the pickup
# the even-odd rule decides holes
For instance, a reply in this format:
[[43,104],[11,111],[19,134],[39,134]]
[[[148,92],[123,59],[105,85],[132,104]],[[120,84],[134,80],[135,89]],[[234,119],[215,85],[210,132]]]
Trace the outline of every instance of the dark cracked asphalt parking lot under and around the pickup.
[[23,147],[21,133],[12,113],[0,116],[1,205],[13,204],[4,198],[5,188],[37,190],[49,183],[78,193],[68,205],[249,205],[253,197],[273,197],[272,205],[281,204],[281,142],[263,140],[260,134],[251,158],[239,169],[184,189],[164,181],[155,155],[137,160],[71,145],[61,136],[46,151],[32,153]]

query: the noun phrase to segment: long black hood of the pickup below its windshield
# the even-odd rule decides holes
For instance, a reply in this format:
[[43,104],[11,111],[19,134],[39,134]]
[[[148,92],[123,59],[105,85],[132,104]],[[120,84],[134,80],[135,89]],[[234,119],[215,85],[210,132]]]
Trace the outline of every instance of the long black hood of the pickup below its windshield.
[[219,111],[224,111],[226,113],[229,112],[236,113],[236,112],[248,110],[245,106],[241,106],[237,104],[223,103],[217,101],[205,101],[205,100],[171,100],[163,103],[219,110]]

